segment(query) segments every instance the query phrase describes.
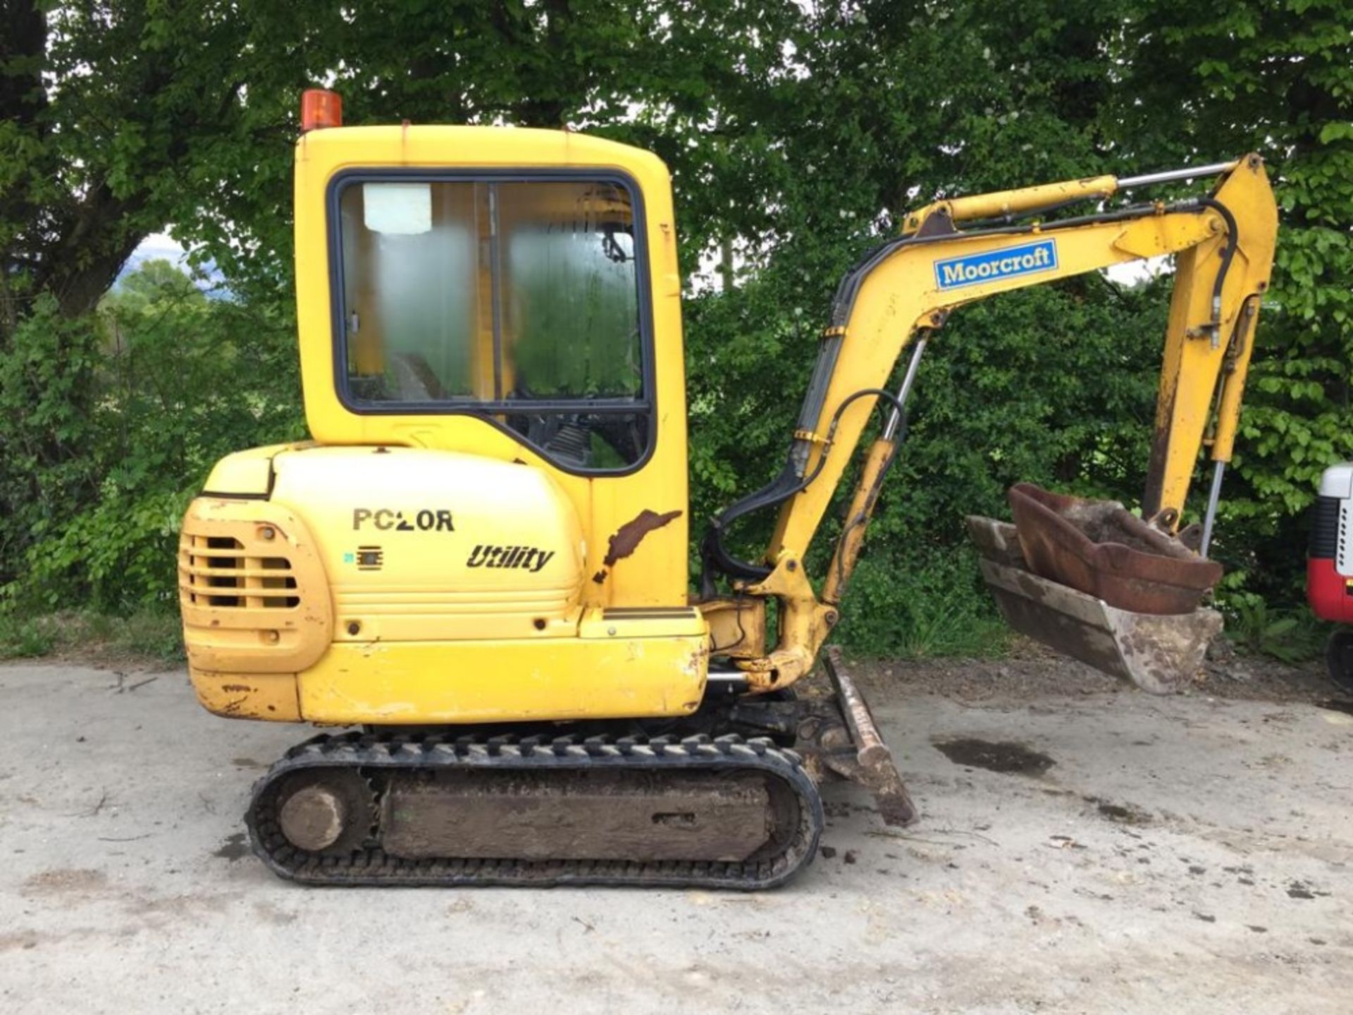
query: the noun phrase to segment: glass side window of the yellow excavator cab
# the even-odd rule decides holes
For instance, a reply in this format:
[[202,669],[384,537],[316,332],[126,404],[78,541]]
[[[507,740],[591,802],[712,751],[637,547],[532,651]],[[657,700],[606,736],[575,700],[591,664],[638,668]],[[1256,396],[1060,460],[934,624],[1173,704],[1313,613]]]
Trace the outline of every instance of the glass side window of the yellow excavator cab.
[[338,211],[353,407],[475,411],[570,467],[643,457],[648,402],[625,187],[349,181]]

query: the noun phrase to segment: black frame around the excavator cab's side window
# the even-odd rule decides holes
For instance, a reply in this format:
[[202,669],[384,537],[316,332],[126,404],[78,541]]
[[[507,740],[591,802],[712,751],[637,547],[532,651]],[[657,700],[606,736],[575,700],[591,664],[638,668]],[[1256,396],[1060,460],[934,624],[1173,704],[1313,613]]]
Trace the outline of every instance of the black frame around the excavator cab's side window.
[[[460,402],[371,402],[354,398],[348,383],[346,306],[344,299],[342,215],[341,200],[348,187],[367,183],[599,183],[620,187],[629,198],[635,230],[635,284],[637,287],[640,398],[549,398],[549,399],[494,399],[474,403]],[[624,476],[637,472],[658,445],[658,383],[653,342],[653,291],[648,257],[648,229],[643,191],[637,181],[620,169],[428,169],[402,166],[363,166],[334,173],[326,188],[325,215],[329,245],[329,303],[333,351],[334,392],[345,410],[356,415],[468,415],[501,430],[522,447],[530,448],[553,468],[571,475]],[[563,461],[526,438],[526,434],[495,420],[495,415],[557,415],[563,413],[594,413],[609,415],[644,415],[647,441],[644,452],[632,463],[618,468],[578,467]]]

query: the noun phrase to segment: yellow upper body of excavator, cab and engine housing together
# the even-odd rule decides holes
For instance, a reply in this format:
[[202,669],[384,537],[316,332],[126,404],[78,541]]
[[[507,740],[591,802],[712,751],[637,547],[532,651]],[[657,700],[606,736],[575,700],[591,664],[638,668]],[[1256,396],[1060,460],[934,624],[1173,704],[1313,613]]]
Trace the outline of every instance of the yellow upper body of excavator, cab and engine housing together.
[[[208,706],[367,724],[694,712],[708,654],[662,164],[559,131],[313,130],[296,252],[313,441],[227,457],[207,483],[222,497],[184,529],[229,531],[288,593],[245,577],[227,604],[189,585]],[[231,526],[241,495],[249,524]],[[287,554],[258,545],[265,520]],[[242,673],[248,694],[230,690]]]

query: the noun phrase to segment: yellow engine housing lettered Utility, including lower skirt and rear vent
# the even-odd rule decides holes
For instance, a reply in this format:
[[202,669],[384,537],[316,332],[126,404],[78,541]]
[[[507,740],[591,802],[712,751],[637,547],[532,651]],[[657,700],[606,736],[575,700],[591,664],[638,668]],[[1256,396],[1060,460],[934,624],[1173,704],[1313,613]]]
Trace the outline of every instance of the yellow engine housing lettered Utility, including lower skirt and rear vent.
[[233,719],[440,724],[679,716],[708,625],[582,602],[572,501],[543,470],[460,452],[268,449],[214,474],[180,540],[199,701]]

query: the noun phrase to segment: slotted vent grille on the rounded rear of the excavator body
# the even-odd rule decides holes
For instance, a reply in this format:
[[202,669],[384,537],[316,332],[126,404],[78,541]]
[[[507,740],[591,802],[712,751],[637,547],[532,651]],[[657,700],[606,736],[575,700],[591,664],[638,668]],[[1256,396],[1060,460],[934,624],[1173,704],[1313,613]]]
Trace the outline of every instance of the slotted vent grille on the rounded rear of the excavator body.
[[195,606],[291,609],[300,605],[296,577],[285,556],[262,556],[231,536],[184,533],[179,545],[179,586]]

